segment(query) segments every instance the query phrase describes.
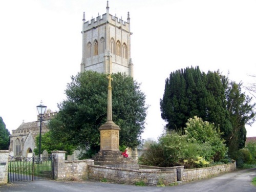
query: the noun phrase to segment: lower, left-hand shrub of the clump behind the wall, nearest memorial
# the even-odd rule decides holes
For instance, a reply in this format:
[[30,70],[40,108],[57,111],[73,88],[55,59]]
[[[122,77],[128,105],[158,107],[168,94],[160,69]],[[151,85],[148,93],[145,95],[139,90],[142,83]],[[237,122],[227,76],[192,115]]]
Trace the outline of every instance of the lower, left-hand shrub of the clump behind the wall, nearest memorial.
[[[205,147],[198,142],[188,142],[185,136],[175,131],[163,134],[159,142],[153,143],[143,155],[140,162],[150,166],[179,166],[185,168],[201,167],[198,163],[199,154],[203,154]],[[207,166],[205,163],[204,166]]]

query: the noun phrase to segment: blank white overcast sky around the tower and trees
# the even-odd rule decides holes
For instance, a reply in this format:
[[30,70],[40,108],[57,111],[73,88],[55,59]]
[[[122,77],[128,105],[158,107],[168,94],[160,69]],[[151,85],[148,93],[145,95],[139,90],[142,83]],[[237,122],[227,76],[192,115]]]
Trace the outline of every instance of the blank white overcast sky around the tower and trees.
[[[150,105],[143,139],[163,131],[159,101],[171,72],[199,66],[255,82],[255,0],[109,0],[109,7],[125,21],[130,12],[134,79]],[[0,116],[10,132],[36,120],[41,100],[58,111],[80,71],[83,12],[90,20],[105,8],[105,0],[0,1]],[[256,136],[255,123],[246,128]]]

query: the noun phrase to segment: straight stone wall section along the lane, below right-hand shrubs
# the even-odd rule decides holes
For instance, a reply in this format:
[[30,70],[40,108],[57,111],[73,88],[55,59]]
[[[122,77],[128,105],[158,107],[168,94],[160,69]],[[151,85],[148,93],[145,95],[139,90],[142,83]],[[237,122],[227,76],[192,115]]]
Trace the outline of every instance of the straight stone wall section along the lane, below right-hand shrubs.
[[182,183],[206,179],[236,170],[236,162],[212,167],[184,169]]

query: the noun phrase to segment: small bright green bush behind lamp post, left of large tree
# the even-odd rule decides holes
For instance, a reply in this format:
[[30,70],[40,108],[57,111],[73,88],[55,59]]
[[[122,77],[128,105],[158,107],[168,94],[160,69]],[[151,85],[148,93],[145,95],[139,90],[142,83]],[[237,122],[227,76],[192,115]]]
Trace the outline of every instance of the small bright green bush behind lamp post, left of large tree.
[[[38,155],[39,148],[39,135],[36,136],[36,148],[34,149],[34,153]],[[53,137],[53,133],[51,131],[46,132],[41,135],[41,153],[46,150],[48,154],[52,151],[66,151],[66,155],[72,155],[75,147],[72,146],[69,142],[63,142],[55,140]]]

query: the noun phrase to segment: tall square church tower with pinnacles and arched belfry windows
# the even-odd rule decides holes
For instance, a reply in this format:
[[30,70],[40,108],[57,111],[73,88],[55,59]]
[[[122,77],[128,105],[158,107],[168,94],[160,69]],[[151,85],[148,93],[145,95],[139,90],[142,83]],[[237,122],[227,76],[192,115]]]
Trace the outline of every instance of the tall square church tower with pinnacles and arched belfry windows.
[[109,9],[108,1],[106,13],[90,22],[86,22],[83,12],[81,72],[121,72],[133,77],[130,14],[128,12],[127,22],[124,22],[111,15]]

